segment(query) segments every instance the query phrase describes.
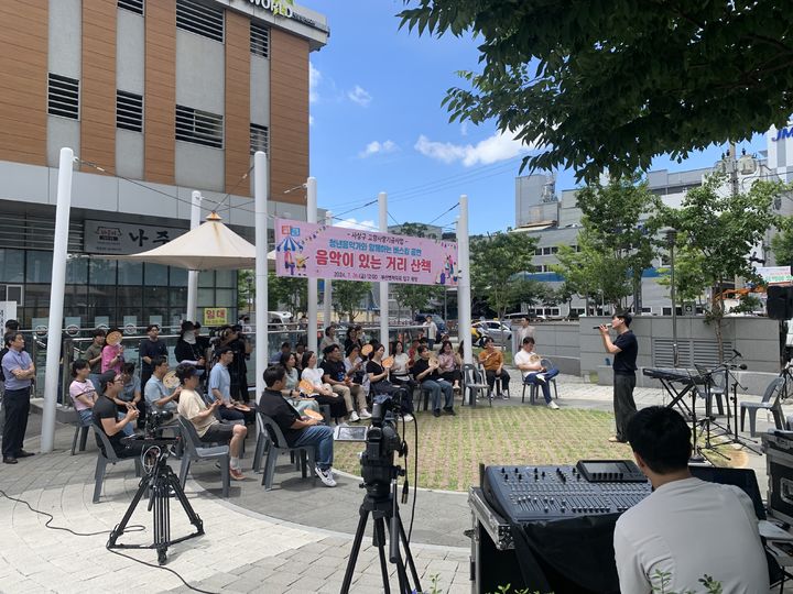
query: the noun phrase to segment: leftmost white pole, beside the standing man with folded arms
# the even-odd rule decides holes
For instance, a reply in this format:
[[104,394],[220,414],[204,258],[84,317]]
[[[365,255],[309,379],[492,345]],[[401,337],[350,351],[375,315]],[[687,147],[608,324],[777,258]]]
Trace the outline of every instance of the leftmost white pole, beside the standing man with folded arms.
[[[61,148],[58,164],[55,238],[53,240],[52,284],[50,285],[50,321],[47,322],[47,353],[44,375],[44,409],[42,411],[41,451],[52,452],[55,442],[55,405],[57,403],[58,367],[61,364],[61,328],[68,257],[68,220],[72,209],[72,174],[74,151]],[[65,378],[64,378],[65,381]]]

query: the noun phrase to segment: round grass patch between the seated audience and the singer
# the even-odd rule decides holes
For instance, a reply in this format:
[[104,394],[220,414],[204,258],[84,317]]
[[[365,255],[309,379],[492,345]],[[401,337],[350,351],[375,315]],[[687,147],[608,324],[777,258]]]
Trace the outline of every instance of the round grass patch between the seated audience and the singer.
[[[457,408],[456,417],[416,416],[419,486],[467,491],[479,484],[479,463],[575,464],[586,459],[632,459],[628,446],[609,443],[613,415],[599,410],[544,406]],[[415,484],[413,455],[416,424],[408,424],[409,476]],[[402,431],[400,425],[399,430]],[[360,475],[362,443],[336,443],[334,466]],[[404,460],[397,463],[404,466]]]

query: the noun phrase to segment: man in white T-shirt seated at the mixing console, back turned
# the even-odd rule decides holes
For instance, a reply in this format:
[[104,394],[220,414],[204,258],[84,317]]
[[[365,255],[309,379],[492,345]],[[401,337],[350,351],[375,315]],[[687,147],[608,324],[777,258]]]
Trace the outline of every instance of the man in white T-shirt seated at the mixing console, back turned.
[[691,430],[683,417],[666,407],[644,408],[627,433],[653,493],[617,520],[620,591],[700,592],[707,574],[725,594],[767,594],[768,564],[752,502],[739,487],[692,477]]

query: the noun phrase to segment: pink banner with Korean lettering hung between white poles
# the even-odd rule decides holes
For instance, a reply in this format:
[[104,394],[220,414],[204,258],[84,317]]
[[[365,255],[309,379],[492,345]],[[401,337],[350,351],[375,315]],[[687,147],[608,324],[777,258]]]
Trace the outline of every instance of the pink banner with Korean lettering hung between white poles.
[[275,274],[457,286],[457,244],[275,219]]

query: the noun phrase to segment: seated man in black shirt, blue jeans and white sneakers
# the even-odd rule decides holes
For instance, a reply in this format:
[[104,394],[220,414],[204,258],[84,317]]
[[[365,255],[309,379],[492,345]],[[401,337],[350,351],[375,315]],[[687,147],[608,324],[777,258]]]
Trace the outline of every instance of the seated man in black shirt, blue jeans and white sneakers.
[[281,365],[264,370],[267,389],[259,399],[259,411],[273,419],[291,447],[313,446],[315,449],[316,472],[319,480],[329,487],[336,486],[333,475],[333,429],[321,425],[322,421],[301,417],[281,396],[286,385],[286,372]]

